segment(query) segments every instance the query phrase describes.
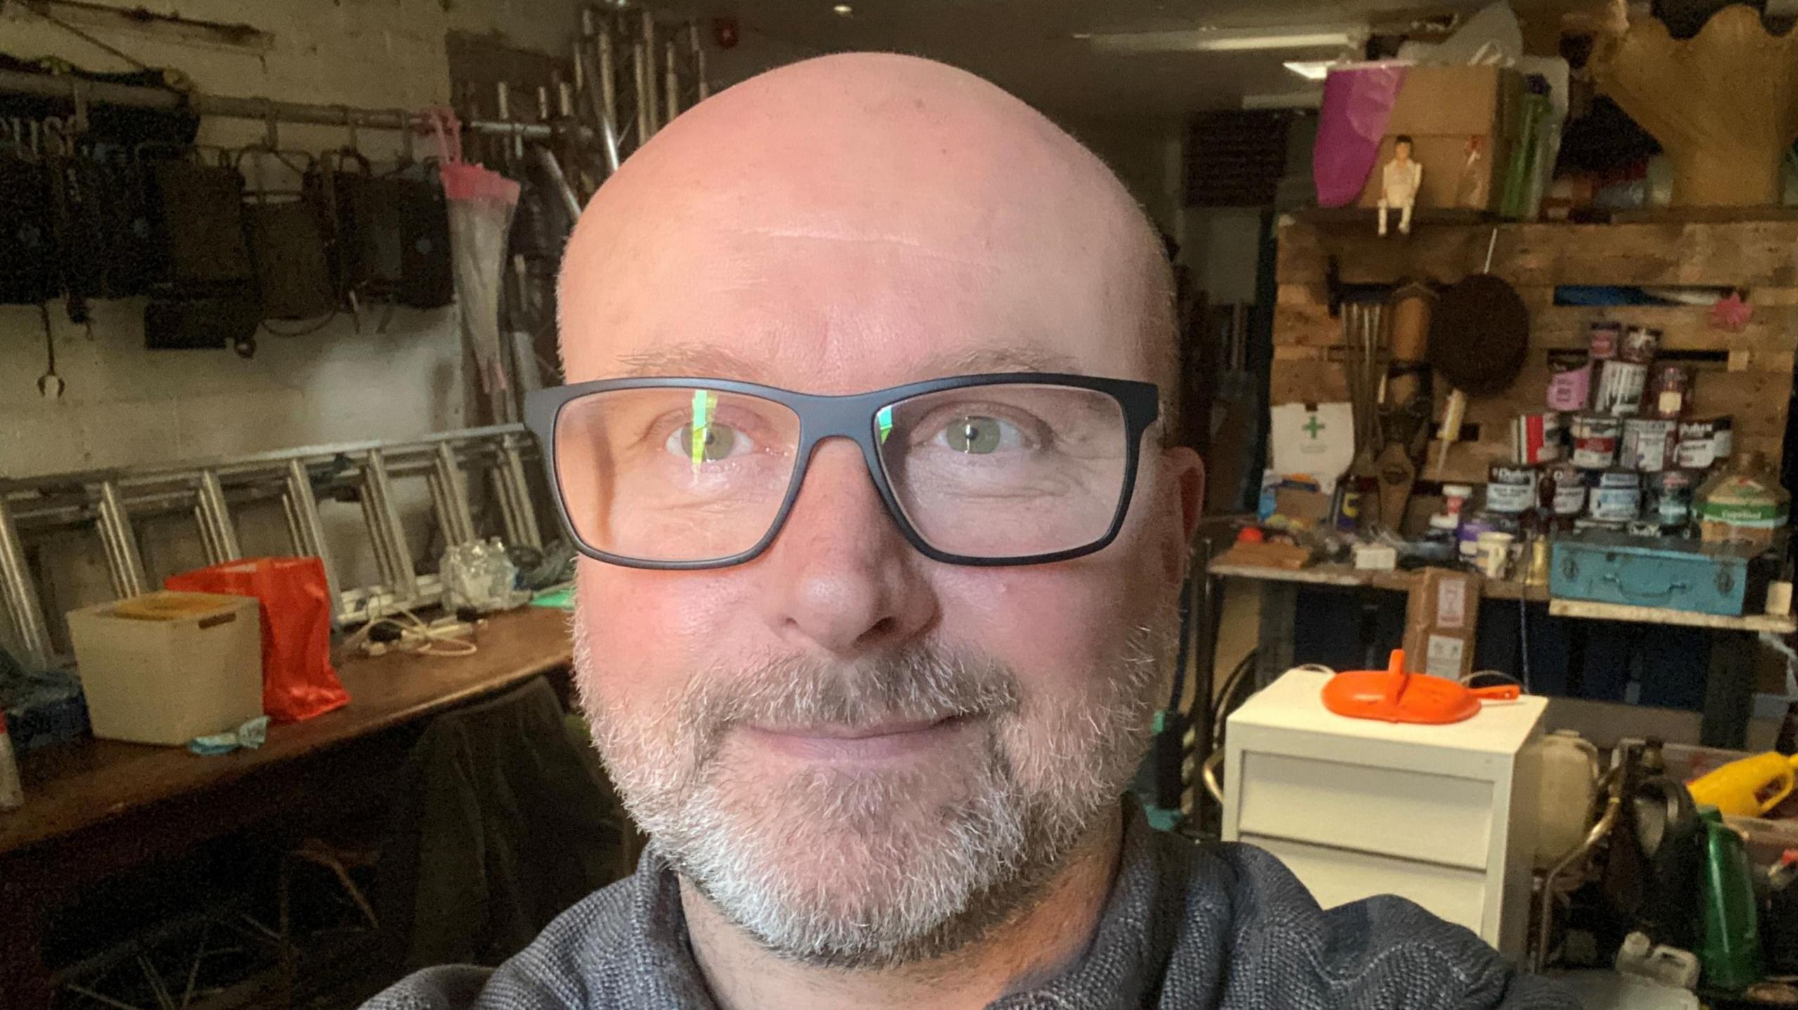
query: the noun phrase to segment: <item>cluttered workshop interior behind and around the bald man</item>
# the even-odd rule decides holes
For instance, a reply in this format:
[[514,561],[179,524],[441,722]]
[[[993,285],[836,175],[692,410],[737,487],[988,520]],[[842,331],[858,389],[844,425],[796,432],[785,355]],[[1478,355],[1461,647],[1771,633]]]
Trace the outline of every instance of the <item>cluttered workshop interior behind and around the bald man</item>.
[[0,0],[0,1006],[356,1006],[631,873],[523,410],[563,246],[840,50],[998,83],[1165,239],[1158,830],[1586,1006],[1798,1005],[1794,22]]

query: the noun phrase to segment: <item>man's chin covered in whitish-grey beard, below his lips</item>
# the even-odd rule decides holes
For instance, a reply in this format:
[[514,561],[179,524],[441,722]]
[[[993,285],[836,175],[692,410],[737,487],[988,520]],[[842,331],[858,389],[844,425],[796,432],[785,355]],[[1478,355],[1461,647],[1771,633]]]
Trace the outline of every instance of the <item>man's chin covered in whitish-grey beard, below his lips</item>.
[[1061,855],[1037,845],[1045,832],[991,742],[953,771],[748,771],[708,784],[690,830],[663,850],[726,918],[795,961],[883,969],[953,952]]

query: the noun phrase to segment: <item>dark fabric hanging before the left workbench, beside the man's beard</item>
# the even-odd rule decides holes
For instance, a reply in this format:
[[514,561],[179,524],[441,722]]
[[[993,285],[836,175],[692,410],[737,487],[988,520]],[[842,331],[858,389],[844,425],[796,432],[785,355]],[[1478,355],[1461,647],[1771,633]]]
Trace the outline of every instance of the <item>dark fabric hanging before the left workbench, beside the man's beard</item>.
[[496,965],[613,879],[613,803],[543,678],[439,715],[408,760],[381,906],[410,967]]

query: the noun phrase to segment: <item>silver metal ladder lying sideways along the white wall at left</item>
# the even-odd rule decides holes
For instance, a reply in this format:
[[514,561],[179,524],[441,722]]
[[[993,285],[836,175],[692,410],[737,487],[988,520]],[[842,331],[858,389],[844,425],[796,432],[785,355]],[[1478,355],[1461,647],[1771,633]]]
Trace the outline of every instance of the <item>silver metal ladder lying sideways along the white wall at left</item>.
[[[79,471],[0,482],[0,615],[23,647],[25,660],[54,665],[50,620],[31,571],[34,539],[70,528],[92,528],[115,597],[149,588],[135,519],[191,514],[209,563],[243,557],[234,510],[279,503],[288,543],[297,555],[324,561],[340,625],[385,613],[435,604],[442,586],[414,570],[405,543],[405,514],[396,480],[423,478],[430,521],[446,546],[476,539],[469,480],[480,476],[493,494],[505,543],[543,546],[527,458],[536,444],[518,424],[448,431],[406,442],[304,446],[273,453],[164,464],[111,471]],[[345,586],[331,557],[320,518],[320,494],[361,505],[363,530],[379,570],[370,586]]]

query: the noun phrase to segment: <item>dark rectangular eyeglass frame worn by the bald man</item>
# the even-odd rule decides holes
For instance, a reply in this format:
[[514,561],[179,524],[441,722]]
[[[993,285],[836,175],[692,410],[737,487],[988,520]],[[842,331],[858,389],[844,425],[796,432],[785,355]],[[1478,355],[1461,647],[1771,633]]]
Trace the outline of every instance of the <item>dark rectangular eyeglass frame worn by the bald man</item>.
[[[879,440],[876,437],[876,413],[915,395],[935,394],[944,390],[960,390],[969,386],[1016,386],[1016,385],[1050,385],[1050,386],[1072,386],[1082,390],[1095,390],[1109,395],[1118,403],[1124,413],[1126,428],[1126,458],[1124,458],[1124,491],[1118,496],[1117,510],[1111,516],[1111,525],[1106,534],[1088,545],[1055,550],[1046,554],[1032,554],[1023,557],[973,557],[962,554],[948,554],[931,546],[904,516],[904,509],[899,505],[899,498],[894,492],[892,482],[886,478],[886,469],[881,465],[879,458]],[[636,557],[624,557],[617,554],[608,554],[588,545],[581,539],[581,534],[574,528],[568,519],[568,503],[561,492],[561,480],[556,474],[556,422],[561,417],[561,410],[574,401],[579,401],[592,394],[601,394],[608,390],[642,390],[642,388],[671,388],[678,386],[683,390],[716,390],[728,394],[746,394],[761,397],[766,401],[779,403],[798,415],[800,433],[798,433],[798,451],[793,465],[793,476],[789,478],[786,498],[780,501],[780,510],[775,512],[773,523],[755,546],[728,555],[707,561],[644,561]],[[1142,449],[1144,431],[1154,424],[1160,415],[1158,392],[1154,383],[1136,383],[1129,379],[1100,379],[1093,376],[1072,376],[1061,372],[994,372],[984,376],[955,376],[948,379],[926,379],[922,383],[906,383],[903,386],[890,386],[885,390],[872,390],[865,394],[849,395],[814,395],[814,394],[797,394],[791,390],[782,390],[777,386],[762,386],[757,383],[737,383],[728,379],[698,379],[698,377],[654,377],[654,379],[599,379],[592,383],[575,383],[572,386],[556,386],[548,390],[539,390],[530,394],[525,401],[525,422],[538,437],[538,444],[543,446],[543,464],[545,473],[550,482],[550,498],[556,501],[556,512],[561,516],[563,530],[568,534],[570,543],[575,548],[597,561],[606,561],[611,564],[620,564],[626,568],[654,568],[654,570],[701,570],[701,568],[726,568],[730,564],[743,564],[755,555],[768,550],[768,545],[780,536],[780,527],[786,525],[788,514],[793,510],[793,501],[798,500],[800,485],[806,482],[806,469],[811,465],[811,455],[827,439],[849,439],[861,446],[861,456],[868,465],[868,474],[874,478],[874,487],[881,494],[881,501],[886,503],[886,512],[892,514],[894,523],[899,525],[899,532],[904,539],[919,550],[924,557],[931,561],[942,561],[946,564],[971,564],[971,566],[1003,566],[1003,564],[1045,564],[1050,561],[1066,561],[1070,557],[1082,557],[1102,550],[1113,539],[1117,539],[1118,530],[1124,527],[1124,516],[1129,512],[1129,500],[1136,489],[1136,462]]]

